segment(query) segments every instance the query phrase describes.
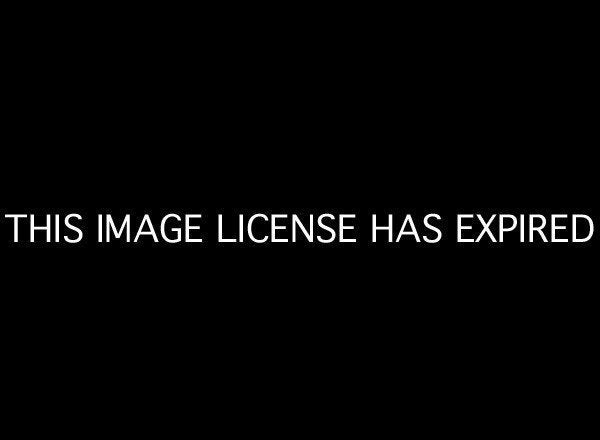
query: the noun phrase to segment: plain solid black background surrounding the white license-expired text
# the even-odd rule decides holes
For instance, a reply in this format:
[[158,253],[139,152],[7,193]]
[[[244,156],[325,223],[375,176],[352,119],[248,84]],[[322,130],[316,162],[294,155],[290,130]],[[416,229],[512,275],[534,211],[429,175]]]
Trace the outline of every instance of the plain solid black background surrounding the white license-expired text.
[[[356,212],[361,243],[5,240],[12,413],[572,429],[594,389],[597,238],[460,246],[453,218],[597,221],[592,29],[539,11],[247,12],[30,11],[3,55],[2,213]],[[368,244],[371,213],[428,212],[440,245]]]

